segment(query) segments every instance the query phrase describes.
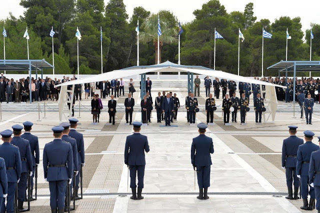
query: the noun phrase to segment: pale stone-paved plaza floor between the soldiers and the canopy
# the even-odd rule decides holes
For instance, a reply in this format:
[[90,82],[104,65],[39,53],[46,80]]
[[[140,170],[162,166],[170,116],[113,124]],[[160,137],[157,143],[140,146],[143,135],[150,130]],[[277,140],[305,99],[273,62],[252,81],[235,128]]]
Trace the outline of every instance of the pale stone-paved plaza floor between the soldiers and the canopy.
[[[157,91],[157,88],[152,89],[153,100]],[[178,88],[172,88],[172,91],[177,93],[181,109],[184,109],[186,91]],[[141,114],[137,111],[140,102],[138,92],[134,93],[134,98],[136,106],[133,118],[140,120]],[[148,136],[150,146],[150,152],[146,154],[142,191],[144,199],[131,200],[129,196],[123,196],[128,195],[128,189],[130,190],[123,152],[125,138],[132,133],[132,126],[125,124],[123,110],[116,113],[115,125],[106,125],[108,114],[105,109],[108,99],[102,100],[105,107],[97,124],[91,123],[90,100],[81,101],[82,105],[88,107],[87,112],[81,109],[78,125],[78,130],[84,134],[84,195],[82,200],[76,201],[75,212],[300,212],[301,199],[284,198],[287,189],[284,170],[281,168],[282,140],[288,136],[289,124],[298,126],[300,137],[306,129],[314,131],[316,136],[320,135],[320,116],[317,112],[312,116],[313,125],[306,125],[299,118],[298,109],[296,117],[292,118],[293,112],[287,110],[292,107],[292,103],[280,102],[279,108],[285,110],[277,112],[274,123],[256,125],[251,109],[247,125],[240,125],[238,121],[224,126],[221,110],[217,111],[214,114],[215,124],[209,125],[206,133],[212,137],[214,144],[214,153],[211,155],[211,186],[208,189],[210,198],[198,200],[198,188],[196,183],[194,185],[194,171],[190,161],[190,146],[192,137],[198,135],[197,127],[188,125],[185,110],[179,111],[177,121],[172,123],[178,127],[160,127],[153,110],[152,122],[148,126],[142,126],[142,133]],[[205,94],[201,92],[198,100],[200,104],[204,104]],[[56,102],[48,102],[47,107],[57,105]],[[119,97],[118,104],[123,107],[123,102],[124,97]],[[220,97],[216,105],[221,102]],[[52,139],[51,127],[60,123],[58,112],[47,111],[47,118],[42,118],[42,111],[41,121],[38,121],[36,109],[24,113],[10,110],[9,104],[2,106],[5,111],[2,110],[4,121],[0,122],[0,130],[10,128],[13,124],[21,124],[25,120],[34,123],[32,133],[39,137],[40,166],[38,197],[31,202],[30,212],[49,212],[49,189],[48,183],[43,179],[42,150],[44,144]],[[315,107],[319,107],[319,104]],[[75,108],[75,117],[77,116]],[[204,110],[197,113],[196,119],[197,123],[206,122]],[[164,124],[163,121],[161,124]],[[317,143],[315,139],[313,142]]]

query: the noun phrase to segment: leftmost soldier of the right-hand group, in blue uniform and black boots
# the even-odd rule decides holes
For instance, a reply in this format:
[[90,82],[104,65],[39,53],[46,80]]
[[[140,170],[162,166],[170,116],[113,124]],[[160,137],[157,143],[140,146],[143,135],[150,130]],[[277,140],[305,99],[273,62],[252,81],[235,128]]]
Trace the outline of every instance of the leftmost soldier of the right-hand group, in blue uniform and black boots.
[[[297,126],[289,125],[290,136],[283,140],[281,167],[285,169],[286,186],[288,188],[287,199],[298,199],[299,178],[296,176],[296,152],[299,145],[303,144],[303,139],[295,136]],[[292,179],[294,186],[294,196],[292,194]]]

